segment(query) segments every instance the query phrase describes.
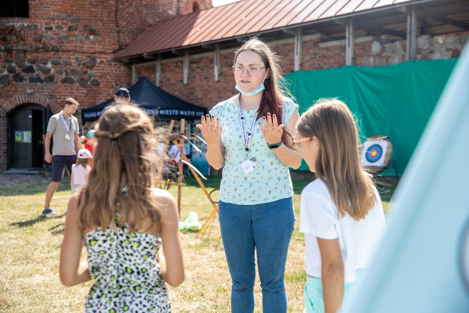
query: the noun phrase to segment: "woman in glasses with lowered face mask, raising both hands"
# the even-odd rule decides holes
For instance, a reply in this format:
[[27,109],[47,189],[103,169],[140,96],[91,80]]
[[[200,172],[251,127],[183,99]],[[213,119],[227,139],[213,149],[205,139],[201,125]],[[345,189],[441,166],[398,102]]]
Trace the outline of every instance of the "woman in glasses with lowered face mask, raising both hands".
[[219,220],[232,277],[232,312],[254,311],[254,252],[262,311],[286,312],[285,262],[295,222],[288,167],[300,154],[292,135],[298,106],[279,88],[278,56],[258,38],[234,53],[233,97],[197,125],[207,140],[207,161],[223,168]]

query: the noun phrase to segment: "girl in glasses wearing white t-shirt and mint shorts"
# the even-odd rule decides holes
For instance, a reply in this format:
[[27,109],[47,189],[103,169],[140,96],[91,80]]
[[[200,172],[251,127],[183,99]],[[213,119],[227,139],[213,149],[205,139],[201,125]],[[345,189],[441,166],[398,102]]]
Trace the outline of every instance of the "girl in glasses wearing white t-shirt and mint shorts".
[[296,124],[295,144],[317,179],[301,192],[307,313],[335,313],[350,301],[385,229],[383,206],[362,169],[354,118],[340,100],[319,100]]

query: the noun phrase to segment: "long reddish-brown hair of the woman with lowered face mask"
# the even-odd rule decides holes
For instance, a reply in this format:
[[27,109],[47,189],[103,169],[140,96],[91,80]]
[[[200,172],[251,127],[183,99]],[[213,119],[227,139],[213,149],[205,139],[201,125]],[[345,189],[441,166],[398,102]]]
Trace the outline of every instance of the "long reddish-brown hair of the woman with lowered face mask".
[[[280,57],[275,53],[268,44],[260,40],[257,36],[245,41],[242,46],[234,51],[234,63],[238,54],[242,51],[250,50],[260,55],[265,67],[269,70],[269,76],[264,81],[264,94],[260,100],[257,116],[266,116],[267,112],[275,114],[278,124],[282,124],[282,95],[293,98],[287,91],[286,82],[283,78],[283,71],[280,66]],[[287,136],[291,135],[283,130],[282,142],[287,144]]]

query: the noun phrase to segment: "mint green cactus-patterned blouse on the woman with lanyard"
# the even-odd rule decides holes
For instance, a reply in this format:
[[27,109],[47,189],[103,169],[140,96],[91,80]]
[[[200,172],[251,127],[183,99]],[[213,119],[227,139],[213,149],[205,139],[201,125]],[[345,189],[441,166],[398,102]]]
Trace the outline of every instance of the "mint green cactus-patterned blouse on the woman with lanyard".
[[[262,123],[262,116],[252,131],[249,144],[249,159],[255,157],[259,167],[244,174],[240,163],[246,161],[244,141],[241,134],[239,107],[233,97],[218,103],[210,110],[211,115],[220,119],[222,143],[226,147],[225,166],[220,186],[220,200],[238,205],[253,205],[289,198],[293,195],[290,172],[277,158],[275,152],[267,147],[257,122]],[[298,109],[291,99],[283,97],[282,123],[287,124],[291,115]],[[246,132],[252,123],[256,110],[242,110]]]

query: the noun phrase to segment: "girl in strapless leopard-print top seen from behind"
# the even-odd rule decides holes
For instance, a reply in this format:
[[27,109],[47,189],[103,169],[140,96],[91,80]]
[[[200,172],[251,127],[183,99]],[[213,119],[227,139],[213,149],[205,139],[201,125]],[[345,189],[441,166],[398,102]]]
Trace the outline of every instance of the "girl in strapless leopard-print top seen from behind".
[[[183,282],[184,263],[176,200],[152,188],[153,122],[117,104],[101,115],[95,136],[88,182],[68,203],[60,279],[68,287],[94,280],[85,312],[171,312],[166,283]],[[82,241],[88,258],[80,262]]]

